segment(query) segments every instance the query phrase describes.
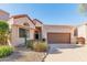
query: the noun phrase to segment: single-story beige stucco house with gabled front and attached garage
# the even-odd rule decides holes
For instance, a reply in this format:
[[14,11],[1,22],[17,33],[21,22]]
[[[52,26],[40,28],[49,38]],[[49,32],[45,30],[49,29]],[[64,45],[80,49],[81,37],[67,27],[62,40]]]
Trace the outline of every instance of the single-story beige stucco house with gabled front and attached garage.
[[[74,41],[74,30],[72,25],[46,25],[37,19],[32,20],[26,14],[13,15],[9,19],[11,29],[11,43],[14,46],[24,44],[24,34],[28,40],[45,39],[47,43],[70,44]],[[26,32],[25,32],[26,31]]]

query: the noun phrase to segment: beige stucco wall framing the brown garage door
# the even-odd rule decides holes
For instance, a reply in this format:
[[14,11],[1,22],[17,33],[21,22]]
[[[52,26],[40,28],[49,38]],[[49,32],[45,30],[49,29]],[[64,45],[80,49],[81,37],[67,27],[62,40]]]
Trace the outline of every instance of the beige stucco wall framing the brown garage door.
[[69,28],[62,28],[62,26],[47,26],[43,25],[43,37],[47,40],[47,33],[70,33],[70,42],[76,43],[74,41],[74,31]]

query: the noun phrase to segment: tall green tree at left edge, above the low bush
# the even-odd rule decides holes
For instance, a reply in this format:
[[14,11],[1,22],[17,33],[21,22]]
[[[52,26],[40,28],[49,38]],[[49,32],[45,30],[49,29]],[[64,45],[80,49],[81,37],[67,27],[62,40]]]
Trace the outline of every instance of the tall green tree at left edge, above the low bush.
[[7,21],[0,21],[0,44],[8,44],[9,24]]

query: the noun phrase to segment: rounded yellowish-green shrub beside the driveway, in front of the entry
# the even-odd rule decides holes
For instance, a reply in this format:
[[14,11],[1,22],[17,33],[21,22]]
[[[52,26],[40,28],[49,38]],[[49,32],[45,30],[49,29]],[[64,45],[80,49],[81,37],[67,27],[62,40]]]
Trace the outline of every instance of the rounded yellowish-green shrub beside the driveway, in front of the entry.
[[36,52],[45,52],[47,51],[48,48],[48,45],[47,43],[34,43],[33,44],[33,50],[36,51]]

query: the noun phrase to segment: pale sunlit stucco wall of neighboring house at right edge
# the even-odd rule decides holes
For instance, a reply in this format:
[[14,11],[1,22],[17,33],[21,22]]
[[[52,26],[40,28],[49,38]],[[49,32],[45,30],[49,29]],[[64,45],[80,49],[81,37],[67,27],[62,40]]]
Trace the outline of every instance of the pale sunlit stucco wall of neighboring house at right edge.
[[78,26],[78,37],[85,37],[85,43],[87,44],[87,25]]

